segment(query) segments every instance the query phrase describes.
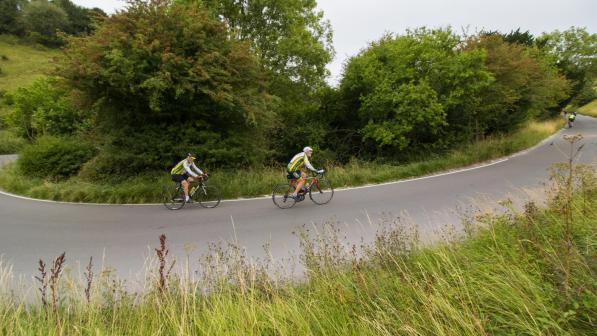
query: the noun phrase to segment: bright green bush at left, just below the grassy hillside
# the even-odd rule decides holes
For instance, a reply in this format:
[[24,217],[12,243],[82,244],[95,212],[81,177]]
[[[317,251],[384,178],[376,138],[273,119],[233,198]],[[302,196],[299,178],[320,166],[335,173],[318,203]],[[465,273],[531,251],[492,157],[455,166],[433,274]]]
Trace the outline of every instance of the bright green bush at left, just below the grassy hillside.
[[20,136],[30,140],[40,135],[69,135],[81,122],[68,92],[56,78],[42,78],[11,95],[8,122]]

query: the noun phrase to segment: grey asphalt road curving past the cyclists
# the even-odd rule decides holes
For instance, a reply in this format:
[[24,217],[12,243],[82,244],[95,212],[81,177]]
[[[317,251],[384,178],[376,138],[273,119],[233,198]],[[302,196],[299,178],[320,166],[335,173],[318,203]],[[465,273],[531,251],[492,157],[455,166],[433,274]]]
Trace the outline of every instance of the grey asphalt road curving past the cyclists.
[[[338,190],[327,206],[310,201],[292,209],[277,209],[271,199],[223,202],[216,209],[188,207],[167,211],[161,205],[65,204],[0,194],[0,255],[15,274],[36,272],[39,258],[49,260],[67,252],[67,262],[77,268],[89,256],[104,259],[121,276],[134,278],[143,268],[149,246],[168,236],[174,255],[184,256],[187,243],[204,251],[209,242],[237,239],[250,256],[263,257],[264,244],[277,260],[296,254],[292,234],[303,224],[338,221],[348,240],[370,239],[380,218],[408,213],[429,238],[446,222],[457,223],[457,207],[478,200],[497,200],[538,189],[546,169],[564,160],[561,135],[581,133],[585,148],[580,161],[597,162],[597,119],[579,116],[572,130],[562,130],[533,149],[482,166],[435,176],[378,186]],[[0,163],[14,159],[0,156]],[[394,215],[392,215],[394,214]],[[96,262],[97,264],[98,262]]]

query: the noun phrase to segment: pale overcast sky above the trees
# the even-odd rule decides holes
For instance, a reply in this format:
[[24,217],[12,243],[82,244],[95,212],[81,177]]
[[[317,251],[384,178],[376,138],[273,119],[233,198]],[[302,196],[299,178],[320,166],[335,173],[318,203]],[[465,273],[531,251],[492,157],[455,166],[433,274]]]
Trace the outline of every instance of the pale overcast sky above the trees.
[[[122,9],[120,0],[74,0],[108,13]],[[455,30],[509,32],[520,27],[537,35],[570,26],[597,32],[597,0],[318,0],[334,29],[336,58],[328,66],[329,82],[340,78],[342,64],[385,32],[403,33],[420,26]]]

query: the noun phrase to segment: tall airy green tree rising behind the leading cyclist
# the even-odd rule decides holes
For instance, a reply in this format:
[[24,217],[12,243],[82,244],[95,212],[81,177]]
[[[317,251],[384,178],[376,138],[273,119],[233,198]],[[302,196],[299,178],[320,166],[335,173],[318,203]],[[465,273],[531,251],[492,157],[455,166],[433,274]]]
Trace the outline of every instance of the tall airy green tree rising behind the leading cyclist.
[[286,160],[303,142],[323,145],[317,120],[318,91],[326,86],[332,60],[332,29],[315,0],[186,0],[205,6],[248,41],[268,74],[269,91],[279,98],[279,122],[270,131],[273,158]]

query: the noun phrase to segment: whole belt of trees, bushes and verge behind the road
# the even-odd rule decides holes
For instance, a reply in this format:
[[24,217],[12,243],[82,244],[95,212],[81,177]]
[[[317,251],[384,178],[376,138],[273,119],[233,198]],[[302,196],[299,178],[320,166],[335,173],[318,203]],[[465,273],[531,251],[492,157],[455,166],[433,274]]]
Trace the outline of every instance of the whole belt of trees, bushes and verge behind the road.
[[[226,197],[268,193],[306,145],[338,186],[417,176],[534,144],[521,130],[595,98],[597,35],[583,28],[386,34],[330,87],[332,29],[312,0],[131,0],[110,16],[15,1],[3,18],[29,23],[1,33],[62,47],[51,74],[2,98],[0,152],[22,162],[0,187],[31,196],[155,201],[188,151]],[[42,12],[54,35],[34,24]],[[477,146],[490,149],[463,153]]]

